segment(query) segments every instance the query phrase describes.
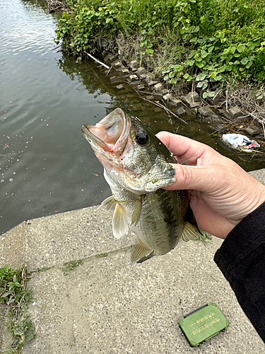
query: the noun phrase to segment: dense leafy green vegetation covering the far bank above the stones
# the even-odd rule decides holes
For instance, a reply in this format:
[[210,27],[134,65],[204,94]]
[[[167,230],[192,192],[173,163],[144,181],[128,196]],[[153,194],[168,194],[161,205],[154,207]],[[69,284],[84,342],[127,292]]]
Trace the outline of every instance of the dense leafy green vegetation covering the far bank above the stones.
[[223,81],[265,79],[265,0],[66,0],[57,42],[66,52],[119,50],[155,62],[170,84],[204,91]]

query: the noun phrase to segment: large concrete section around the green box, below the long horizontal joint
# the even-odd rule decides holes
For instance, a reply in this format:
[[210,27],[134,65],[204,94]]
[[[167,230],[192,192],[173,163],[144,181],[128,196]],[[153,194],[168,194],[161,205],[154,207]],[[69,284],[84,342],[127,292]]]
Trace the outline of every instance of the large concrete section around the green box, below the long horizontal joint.
[[[129,251],[119,250],[91,256],[65,277],[59,268],[37,273],[29,282],[37,336],[24,353],[265,353],[213,262],[221,242],[182,242],[134,267]],[[191,348],[178,321],[207,302],[218,304],[230,327]]]

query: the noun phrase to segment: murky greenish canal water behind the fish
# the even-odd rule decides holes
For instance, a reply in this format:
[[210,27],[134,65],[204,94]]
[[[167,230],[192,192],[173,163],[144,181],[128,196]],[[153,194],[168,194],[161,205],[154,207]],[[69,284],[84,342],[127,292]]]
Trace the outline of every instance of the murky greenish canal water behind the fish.
[[209,144],[247,170],[264,166],[223,147],[205,122],[170,120],[133,89],[116,89],[94,62],[64,57],[54,45],[58,15],[45,1],[1,0],[0,13],[0,234],[23,220],[96,205],[110,195],[81,126],[117,107],[153,132],[177,130]]

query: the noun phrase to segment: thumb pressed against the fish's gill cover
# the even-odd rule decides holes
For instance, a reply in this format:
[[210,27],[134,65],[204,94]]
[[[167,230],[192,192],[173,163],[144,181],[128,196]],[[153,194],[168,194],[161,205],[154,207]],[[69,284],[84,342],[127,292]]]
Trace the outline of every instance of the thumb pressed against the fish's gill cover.
[[217,171],[213,171],[213,166],[187,166],[180,164],[171,164],[175,169],[174,183],[166,185],[163,189],[194,189],[209,190],[214,181],[218,178]]

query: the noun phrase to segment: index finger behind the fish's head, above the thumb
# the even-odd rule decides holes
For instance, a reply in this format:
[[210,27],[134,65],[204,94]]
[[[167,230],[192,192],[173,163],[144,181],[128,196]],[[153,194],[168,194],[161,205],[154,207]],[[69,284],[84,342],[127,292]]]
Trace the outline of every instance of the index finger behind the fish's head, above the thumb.
[[179,163],[189,160],[189,165],[196,165],[197,159],[204,154],[206,149],[211,149],[201,142],[170,132],[158,132],[156,136],[177,157]]

